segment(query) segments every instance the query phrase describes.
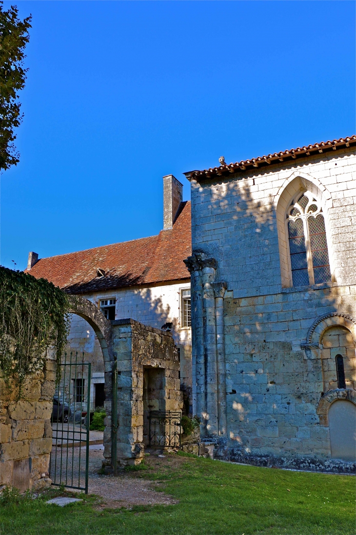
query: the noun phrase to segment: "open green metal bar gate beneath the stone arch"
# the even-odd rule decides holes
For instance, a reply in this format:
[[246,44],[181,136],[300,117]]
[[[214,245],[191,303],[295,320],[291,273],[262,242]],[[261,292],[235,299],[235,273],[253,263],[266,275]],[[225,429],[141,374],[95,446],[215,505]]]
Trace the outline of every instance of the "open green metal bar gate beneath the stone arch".
[[53,397],[50,478],[88,494],[91,364],[70,353]]

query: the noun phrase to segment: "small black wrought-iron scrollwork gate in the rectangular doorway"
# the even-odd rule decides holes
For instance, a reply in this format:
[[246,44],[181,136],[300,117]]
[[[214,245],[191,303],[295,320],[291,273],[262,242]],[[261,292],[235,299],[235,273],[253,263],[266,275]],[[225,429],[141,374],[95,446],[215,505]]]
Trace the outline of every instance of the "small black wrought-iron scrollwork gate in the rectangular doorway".
[[181,412],[152,410],[149,412],[149,445],[152,447],[179,448]]

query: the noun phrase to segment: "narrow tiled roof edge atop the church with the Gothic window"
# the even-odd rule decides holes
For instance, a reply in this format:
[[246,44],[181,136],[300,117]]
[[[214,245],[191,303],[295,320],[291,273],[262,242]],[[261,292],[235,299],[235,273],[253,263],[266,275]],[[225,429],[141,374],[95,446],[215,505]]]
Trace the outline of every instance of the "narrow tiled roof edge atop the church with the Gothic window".
[[203,178],[212,178],[220,175],[228,175],[230,173],[238,173],[239,171],[246,171],[253,167],[268,166],[272,163],[284,162],[291,159],[296,159],[302,156],[312,156],[321,152],[327,152],[330,150],[342,149],[344,147],[350,147],[350,145],[356,144],[356,135],[350,137],[341,137],[340,139],[333,139],[333,141],[322,141],[321,143],[314,143],[307,147],[297,147],[296,149],[283,150],[281,152],[274,152],[274,154],[268,154],[267,156],[258,156],[257,158],[251,158],[249,160],[241,160],[241,162],[220,165],[219,167],[210,167],[210,169],[204,169],[203,171],[188,171],[183,173],[188,180]]

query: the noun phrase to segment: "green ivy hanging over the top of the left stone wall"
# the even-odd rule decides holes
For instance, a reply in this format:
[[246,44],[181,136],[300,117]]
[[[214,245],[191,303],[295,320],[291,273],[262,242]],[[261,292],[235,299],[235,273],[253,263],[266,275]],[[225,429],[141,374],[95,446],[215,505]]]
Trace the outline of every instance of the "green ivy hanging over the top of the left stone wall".
[[0,266],[0,375],[17,400],[26,378],[43,368],[50,346],[60,363],[68,311],[68,296],[52,282]]

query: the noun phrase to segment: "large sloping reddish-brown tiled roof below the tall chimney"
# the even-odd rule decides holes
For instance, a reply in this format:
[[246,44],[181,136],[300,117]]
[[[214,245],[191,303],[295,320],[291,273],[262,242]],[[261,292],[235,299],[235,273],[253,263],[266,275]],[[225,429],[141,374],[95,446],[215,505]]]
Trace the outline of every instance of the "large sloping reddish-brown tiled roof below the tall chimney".
[[72,294],[187,279],[191,242],[191,203],[182,202],[173,228],[157,236],[41,258],[28,273]]

